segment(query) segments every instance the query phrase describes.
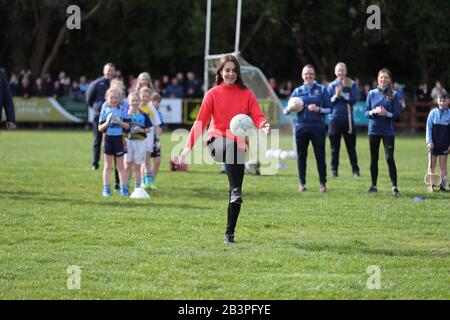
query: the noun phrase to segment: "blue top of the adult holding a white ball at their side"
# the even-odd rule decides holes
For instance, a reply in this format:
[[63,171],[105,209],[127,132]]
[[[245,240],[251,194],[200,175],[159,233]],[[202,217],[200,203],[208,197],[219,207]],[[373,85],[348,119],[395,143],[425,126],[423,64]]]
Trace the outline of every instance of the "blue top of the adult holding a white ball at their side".
[[[318,84],[316,81],[313,82],[311,87],[303,84],[295,88],[291,95],[291,98],[293,97],[300,97],[304,103],[303,110],[297,113],[297,128],[325,126],[324,114],[330,113],[331,101],[328,90],[324,86]],[[320,112],[309,111],[308,106],[311,104],[320,107]]]

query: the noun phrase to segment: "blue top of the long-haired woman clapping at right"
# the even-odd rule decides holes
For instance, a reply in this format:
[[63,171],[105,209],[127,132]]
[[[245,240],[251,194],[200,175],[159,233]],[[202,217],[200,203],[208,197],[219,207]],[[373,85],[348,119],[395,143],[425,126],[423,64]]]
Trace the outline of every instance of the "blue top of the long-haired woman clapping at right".
[[[369,136],[395,136],[394,119],[400,115],[400,101],[397,91],[393,91],[392,97],[387,96],[387,88],[372,89],[367,94],[366,117],[369,118]],[[376,107],[383,106],[387,116],[373,113]]]

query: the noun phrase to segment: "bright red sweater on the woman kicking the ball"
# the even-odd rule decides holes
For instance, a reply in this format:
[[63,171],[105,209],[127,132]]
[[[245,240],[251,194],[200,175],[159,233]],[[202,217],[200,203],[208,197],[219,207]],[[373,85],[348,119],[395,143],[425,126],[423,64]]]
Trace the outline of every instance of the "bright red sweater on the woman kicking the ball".
[[208,130],[208,139],[226,137],[237,141],[241,149],[245,149],[245,140],[236,137],[230,131],[230,121],[237,114],[247,114],[257,128],[266,121],[261,107],[256,101],[253,91],[242,89],[238,85],[227,86],[221,83],[209,90],[203,98],[200,112],[189,133],[186,147],[192,149],[195,141],[203,134],[206,126],[213,121]]

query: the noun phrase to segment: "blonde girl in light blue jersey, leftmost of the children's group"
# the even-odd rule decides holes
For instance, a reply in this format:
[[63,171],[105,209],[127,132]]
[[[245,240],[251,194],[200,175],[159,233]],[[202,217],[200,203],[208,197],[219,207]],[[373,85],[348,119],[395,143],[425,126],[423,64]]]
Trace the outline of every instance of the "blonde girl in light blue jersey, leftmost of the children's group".
[[127,115],[119,109],[121,92],[118,88],[109,88],[106,91],[107,106],[100,114],[98,131],[105,135],[105,165],[103,168],[103,196],[111,196],[110,176],[114,157],[120,178],[120,194],[127,196],[125,168],[123,155],[125,154],[122,134],[129,128]]

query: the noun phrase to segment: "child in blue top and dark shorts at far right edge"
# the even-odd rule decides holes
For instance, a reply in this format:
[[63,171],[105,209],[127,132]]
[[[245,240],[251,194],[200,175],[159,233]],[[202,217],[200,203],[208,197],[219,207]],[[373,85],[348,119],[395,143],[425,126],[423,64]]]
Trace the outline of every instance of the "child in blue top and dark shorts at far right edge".
[[439,157],[442,183],[440,190],[447,191],[447,156],[450,150],[450,110],[448,94],[443,91],[437,96],[438,107],[431,110],[427,120],[426,140],[431,157],[431,173],[434,174],[436,160]]

